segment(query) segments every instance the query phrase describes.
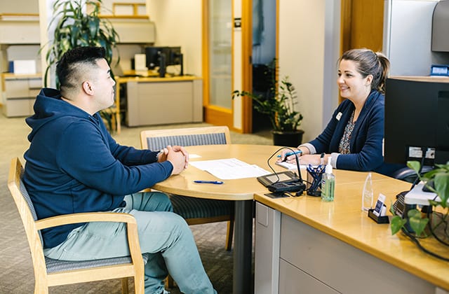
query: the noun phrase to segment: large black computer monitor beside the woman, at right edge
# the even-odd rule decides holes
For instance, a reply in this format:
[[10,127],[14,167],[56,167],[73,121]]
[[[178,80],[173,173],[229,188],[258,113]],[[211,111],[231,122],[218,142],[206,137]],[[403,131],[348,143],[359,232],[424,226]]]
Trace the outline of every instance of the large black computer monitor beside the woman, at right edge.
[[385,162],[448,162],[449,78],[387,78],[384,135]]

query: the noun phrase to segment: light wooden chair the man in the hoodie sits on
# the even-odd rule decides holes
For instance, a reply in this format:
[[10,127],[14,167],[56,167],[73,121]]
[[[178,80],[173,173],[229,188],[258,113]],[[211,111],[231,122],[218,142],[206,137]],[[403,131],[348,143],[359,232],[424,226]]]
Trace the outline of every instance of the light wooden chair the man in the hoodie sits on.
[[[130,214],[93,212],[83,214],[65,214],[37,220],[36,211],[22,183],[23,168],[18,158],[11,160],[8,176],[8,188],[27,234],[34,267],[34,293],[48,293],[48,287],[121,279],[122,293],[128,293],[128,277],[134,278],[135,293],[144,293],[144,262],[147,256],[140,252],[140,244],[135,218]],[[112,221],[126,223],[128,228],[128,246],[130,256],[105,258],[101,260],[65,261],[54,260],[43,255],[40,230],[69,223],[92,221]],[[144,260],[145,259],[145,260]]]

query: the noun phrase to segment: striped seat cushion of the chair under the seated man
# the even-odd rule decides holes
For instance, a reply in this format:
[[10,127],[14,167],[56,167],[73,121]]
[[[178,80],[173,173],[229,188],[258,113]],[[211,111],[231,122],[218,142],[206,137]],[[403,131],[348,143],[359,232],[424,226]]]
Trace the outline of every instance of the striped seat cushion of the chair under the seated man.
[[[142,254],[142,258],[143,263],[146,264],[148,261],[148,255],[144,253]],[[53,272],[66,272],[72,269],[88,269],[92,267],[104,267],[109,265],[123,265],[130,262],[130,256],[80,261],[56,260],[48,257],[45,258],[48,274],[51,274]]]

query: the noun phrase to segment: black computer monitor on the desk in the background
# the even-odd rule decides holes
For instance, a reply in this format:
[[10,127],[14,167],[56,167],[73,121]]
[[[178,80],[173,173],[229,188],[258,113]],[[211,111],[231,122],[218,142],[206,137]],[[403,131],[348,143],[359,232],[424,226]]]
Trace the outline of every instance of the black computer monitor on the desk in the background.
[[155,69],[159,67],[159,76],[165,76],[166,66],[180,65],[180,76],[184,75],[183,72],[183,58],[181,48],[168,47],[168,46],[149,46],[145,47],[145,55],[147,59],[147,68]]

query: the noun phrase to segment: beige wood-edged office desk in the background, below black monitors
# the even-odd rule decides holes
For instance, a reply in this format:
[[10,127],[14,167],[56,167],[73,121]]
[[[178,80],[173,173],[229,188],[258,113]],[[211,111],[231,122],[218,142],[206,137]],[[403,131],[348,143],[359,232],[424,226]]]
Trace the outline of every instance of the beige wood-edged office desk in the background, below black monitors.
[[126,84],[126,125],[203,121],[203,80],[196,76],[119,76],[116,78],[116,129],[120,132],[121,85]]

